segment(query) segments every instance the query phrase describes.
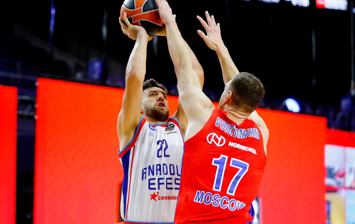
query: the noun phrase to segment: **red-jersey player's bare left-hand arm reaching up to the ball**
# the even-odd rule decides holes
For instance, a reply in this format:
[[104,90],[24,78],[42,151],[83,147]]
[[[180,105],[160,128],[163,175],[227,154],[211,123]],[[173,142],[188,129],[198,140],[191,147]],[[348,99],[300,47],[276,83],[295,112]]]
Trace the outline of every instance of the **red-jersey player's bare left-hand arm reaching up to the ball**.
[[181,37],[168,2],[165,0],[156,1],[160,18],[166,26],[169,53],[178,78],[179,98],[190,123],[190,121],[199,119],[200,113],[203,113],[207,108],[212,108],[213,104],[202,92],[200,82],[192,68],[189,48]]

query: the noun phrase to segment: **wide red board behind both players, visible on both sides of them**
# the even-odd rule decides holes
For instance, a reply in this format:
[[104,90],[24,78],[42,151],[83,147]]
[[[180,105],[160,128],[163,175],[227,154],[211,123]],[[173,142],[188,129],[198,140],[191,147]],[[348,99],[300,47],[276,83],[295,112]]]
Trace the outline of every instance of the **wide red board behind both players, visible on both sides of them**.
[[[116,121],[124,90],[38,82],[34,223],[117,222],[123,174]],[[171,115],[177,97],[168,100]],[[326,119],[258,113],[270,131],[258,193],[262,224],[324,223]]]

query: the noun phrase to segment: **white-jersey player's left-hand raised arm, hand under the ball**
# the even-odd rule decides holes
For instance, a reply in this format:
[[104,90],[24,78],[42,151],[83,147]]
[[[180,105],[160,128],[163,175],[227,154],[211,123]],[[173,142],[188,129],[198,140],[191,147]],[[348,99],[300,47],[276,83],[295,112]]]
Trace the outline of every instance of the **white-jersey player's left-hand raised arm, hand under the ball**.
[[119,19],[123,33],[136,40],[136,43],[126,68],[126,88],[117,121],[117,134],[121,147],[132,139],[142,116],[140,111],[146,74],[147,44],[152,39],[143,27],[131,25],[126,13],[124,20],[127,26],[121,18]]

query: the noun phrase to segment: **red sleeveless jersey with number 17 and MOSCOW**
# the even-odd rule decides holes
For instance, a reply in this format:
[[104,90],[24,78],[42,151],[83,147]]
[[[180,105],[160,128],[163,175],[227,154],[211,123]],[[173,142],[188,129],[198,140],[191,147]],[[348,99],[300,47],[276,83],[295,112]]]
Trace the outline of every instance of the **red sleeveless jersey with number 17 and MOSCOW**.
[[184,143],[175,224],[246,224],[259,189],[266,155],[255,122],[240,125],[217,108],[204,127]]

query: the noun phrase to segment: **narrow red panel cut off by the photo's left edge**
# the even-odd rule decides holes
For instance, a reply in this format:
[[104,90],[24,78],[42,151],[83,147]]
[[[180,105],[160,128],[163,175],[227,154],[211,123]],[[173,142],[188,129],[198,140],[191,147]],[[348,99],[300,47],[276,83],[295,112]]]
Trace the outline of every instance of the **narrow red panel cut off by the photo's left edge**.
[[17,88],[0,85],[0,223],[16,218]]

